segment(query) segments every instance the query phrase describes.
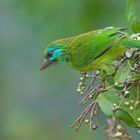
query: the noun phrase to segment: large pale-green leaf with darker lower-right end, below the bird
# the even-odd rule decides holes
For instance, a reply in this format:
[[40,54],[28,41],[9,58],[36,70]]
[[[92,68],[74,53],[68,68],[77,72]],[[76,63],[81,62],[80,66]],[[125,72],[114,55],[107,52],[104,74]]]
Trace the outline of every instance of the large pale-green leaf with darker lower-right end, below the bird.
[[119,109],[113,112],[114,104],[120,104],[121,97],[116,93],[108,93],[104,92],[98,96],[98,104],[101,110],[108,116],[113,117],[116,116],[118,119],[124,121],[130,127],[136,127],[135,120],[131,117],[128,110],[125,108]]

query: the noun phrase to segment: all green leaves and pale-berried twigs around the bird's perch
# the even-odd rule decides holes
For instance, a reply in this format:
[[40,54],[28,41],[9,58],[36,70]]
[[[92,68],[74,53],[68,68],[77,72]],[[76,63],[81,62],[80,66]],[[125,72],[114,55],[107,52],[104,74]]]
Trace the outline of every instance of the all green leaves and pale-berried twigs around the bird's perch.
[[[134,4],[134,0],[127,0],[127,17],[133,32],[137,33],[131,37],[140,40],[140,22],[135,15]],[[77,91],[82,96],[86,94],[80,103],[89,105],[72,127],[78,130],[85,122],[90,130],[97,129],[98,113],[102,110],[111,118],[108,119],[106,128],[108,139],[131,140],[122,122],[129,127],[138,128],[140,133],[140,50],[128,49],[124,57],[112,62],[112,65],[116,69],[113,75],[103,71],[82,73]],[[87,79],[91,79],[89,85]]]

